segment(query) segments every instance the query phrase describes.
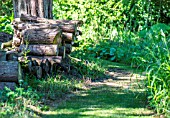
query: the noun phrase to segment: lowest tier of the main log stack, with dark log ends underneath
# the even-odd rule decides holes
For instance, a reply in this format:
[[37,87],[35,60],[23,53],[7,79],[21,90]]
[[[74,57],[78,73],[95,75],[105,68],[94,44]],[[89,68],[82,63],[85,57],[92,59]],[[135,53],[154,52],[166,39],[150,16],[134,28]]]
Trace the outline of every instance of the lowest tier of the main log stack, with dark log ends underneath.
[[[27,56],[18,58],[20,63],[29,61],[30,66],[27,64],[25,68],[26,72],[37,76],[37,78],[42,78],[42,76],[47,76],[52,74],[56,69],[57,65],[62,62],[61,56]],[[41,68],[39,68],[41,67]],[[40,74],[37,74],[40,73]],[[42,74],[41,74],[42,73]]]

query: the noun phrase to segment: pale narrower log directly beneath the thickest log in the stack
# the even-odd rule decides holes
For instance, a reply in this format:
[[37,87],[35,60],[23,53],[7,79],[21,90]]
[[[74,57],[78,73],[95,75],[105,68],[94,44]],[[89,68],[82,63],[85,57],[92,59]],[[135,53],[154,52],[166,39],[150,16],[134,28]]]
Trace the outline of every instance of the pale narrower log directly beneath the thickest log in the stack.
[[59,48],[58,45],[20,45],[19,52],[24,51],[28,51],[30,55],[57,56]]

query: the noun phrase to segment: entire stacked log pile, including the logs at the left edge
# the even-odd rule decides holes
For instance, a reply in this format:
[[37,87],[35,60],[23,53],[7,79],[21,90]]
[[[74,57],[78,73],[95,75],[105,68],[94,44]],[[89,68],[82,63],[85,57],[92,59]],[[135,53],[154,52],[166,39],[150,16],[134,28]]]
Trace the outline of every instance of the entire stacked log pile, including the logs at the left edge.
[[82,24],[80,20],[52,20],[24,14],[15,18],[12,40],[0,41],[0,86],[14,88],[25,72],[37,78],[55,73],[65,55],[71,53],[74,40],[82,34],[78,29]]

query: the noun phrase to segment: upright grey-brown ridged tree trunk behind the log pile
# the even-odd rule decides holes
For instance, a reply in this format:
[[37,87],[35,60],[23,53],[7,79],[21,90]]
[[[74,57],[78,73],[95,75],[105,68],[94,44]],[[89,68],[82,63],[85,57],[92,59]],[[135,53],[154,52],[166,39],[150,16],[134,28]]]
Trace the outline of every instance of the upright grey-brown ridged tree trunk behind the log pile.
[[52,4],[53,0],[13,0],[14,17],[29,14],[52,19]]

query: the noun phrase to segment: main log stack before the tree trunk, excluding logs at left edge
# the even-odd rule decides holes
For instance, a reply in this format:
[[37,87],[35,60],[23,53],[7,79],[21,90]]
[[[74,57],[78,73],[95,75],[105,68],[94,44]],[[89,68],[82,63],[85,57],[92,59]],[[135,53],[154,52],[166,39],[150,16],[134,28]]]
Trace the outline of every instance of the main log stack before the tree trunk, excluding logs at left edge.
[[15,18],[12,46],[27,57],[19,57],[22,64],[28,60],[30,73],[42,78],[56,72],[66,54],[70,54],[72,44],[81,31],[80,20],[52,20],[21,14]]

